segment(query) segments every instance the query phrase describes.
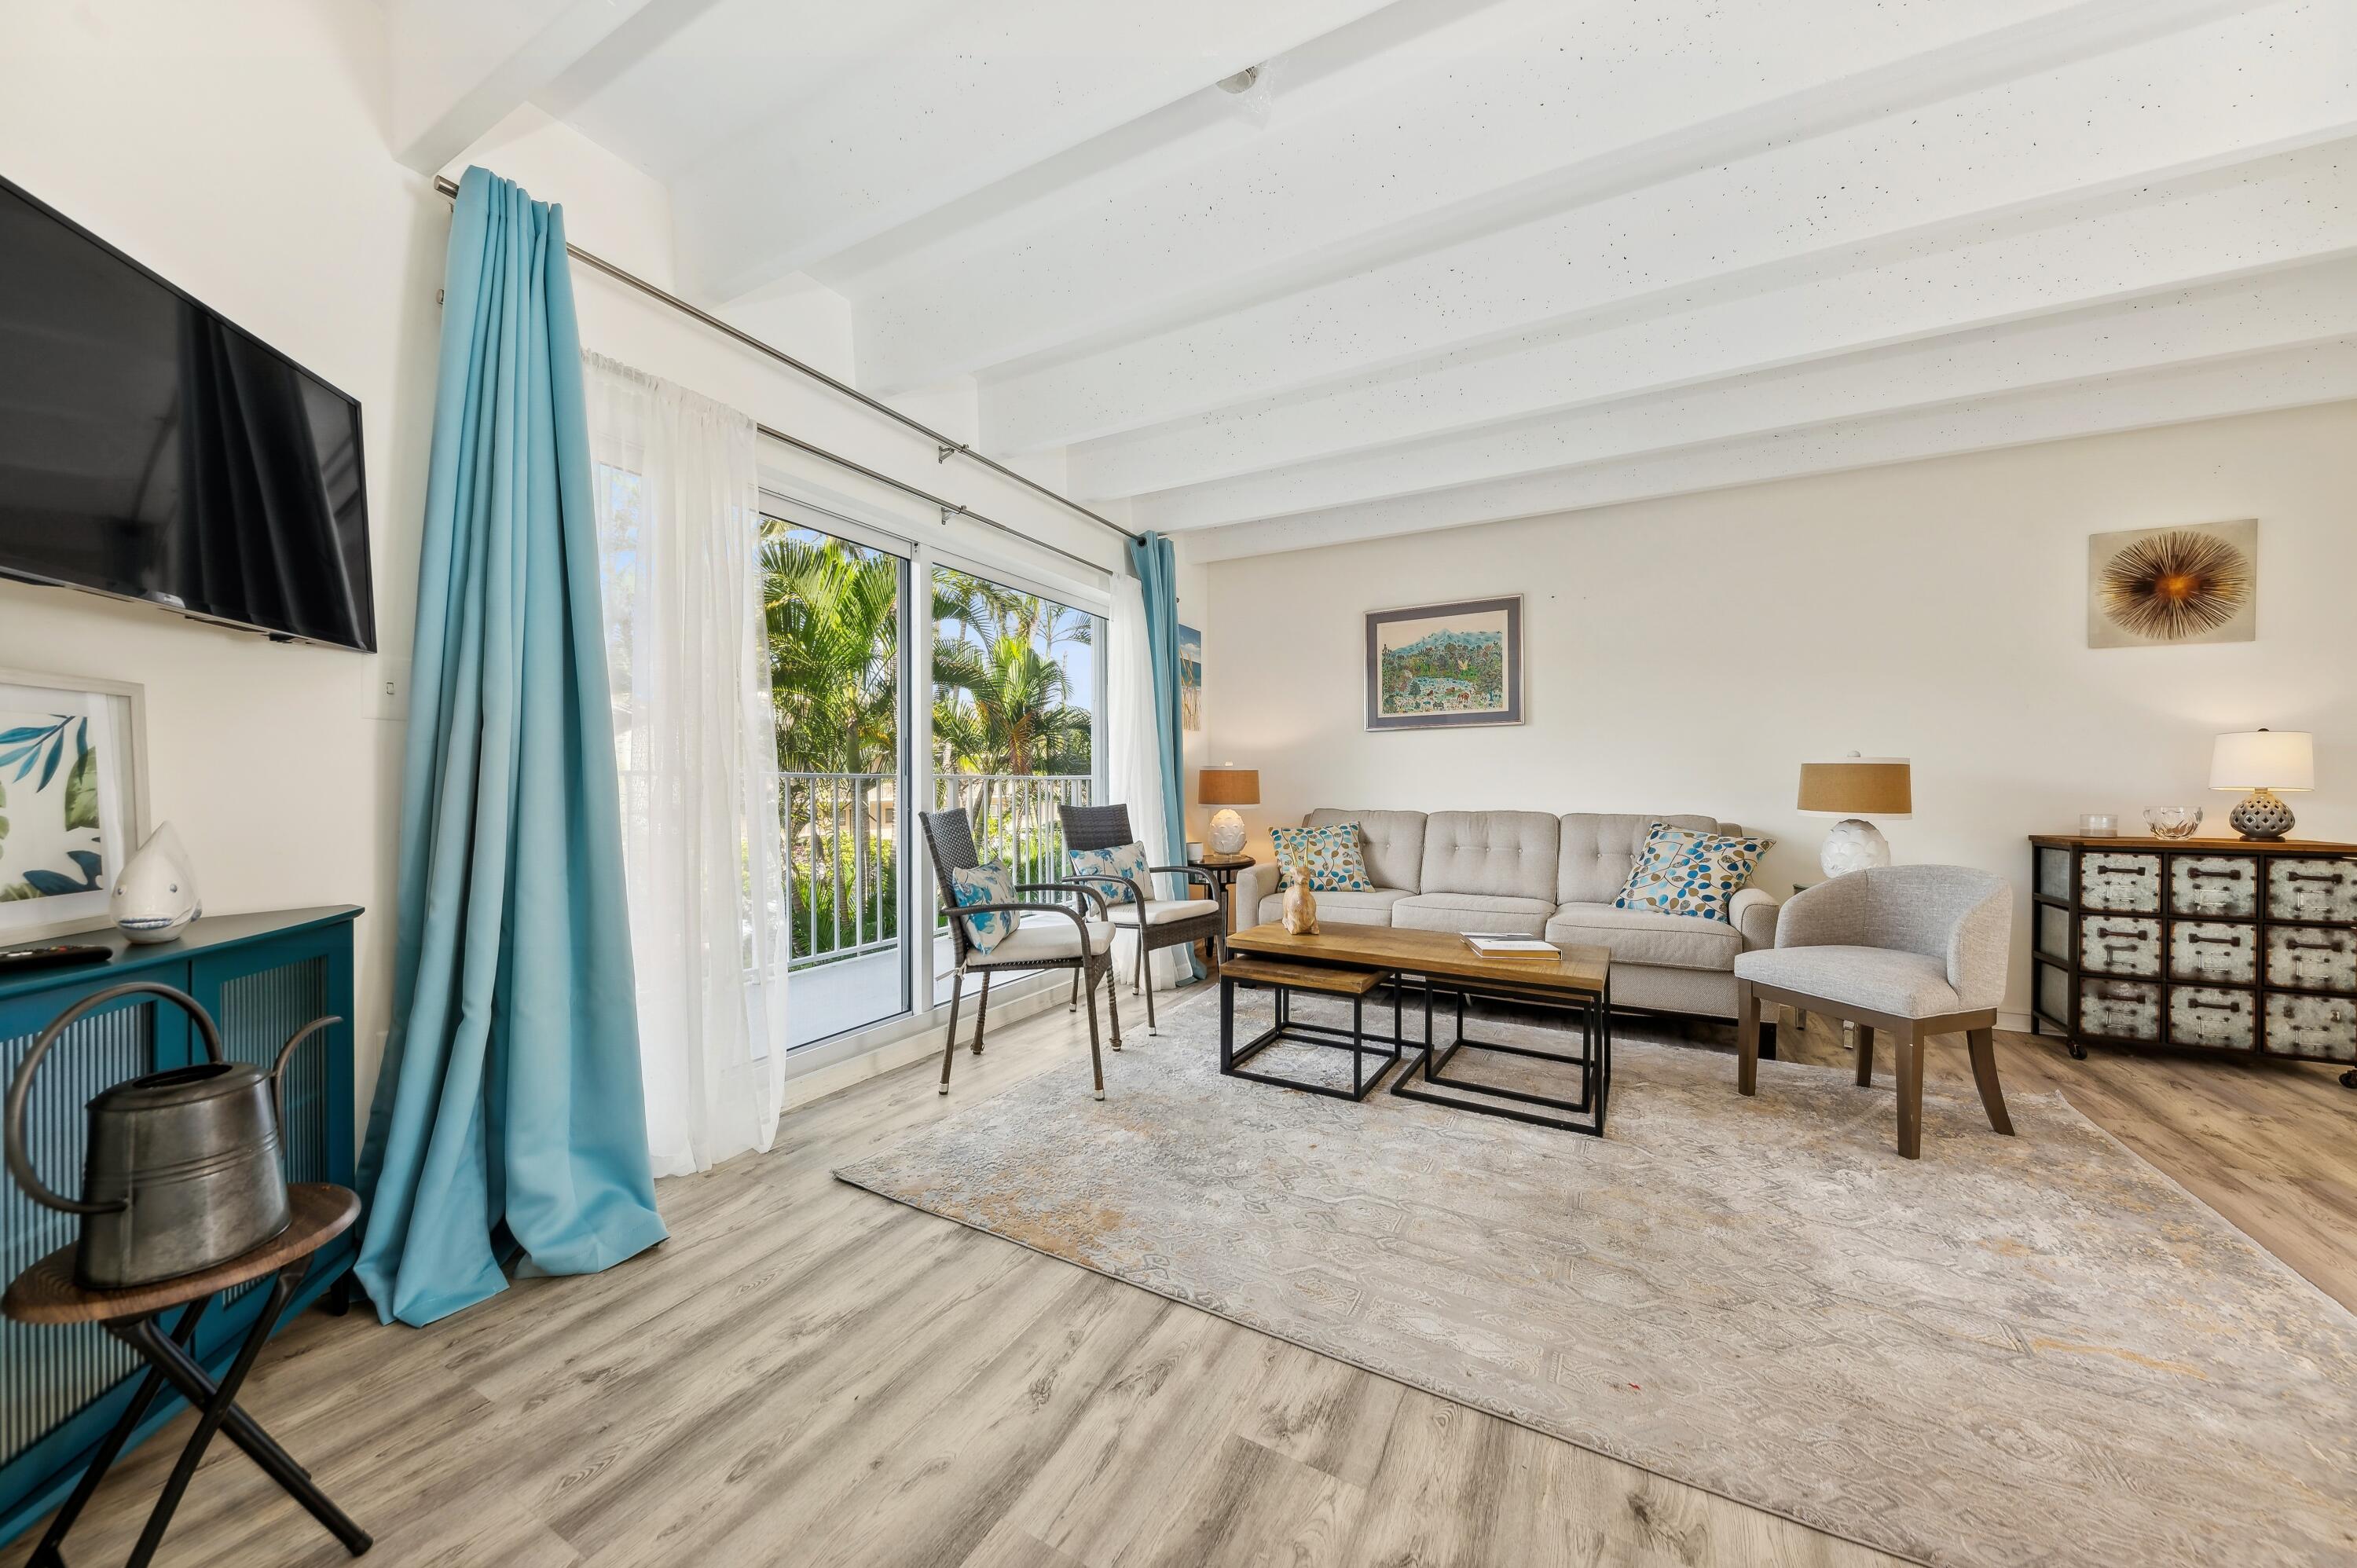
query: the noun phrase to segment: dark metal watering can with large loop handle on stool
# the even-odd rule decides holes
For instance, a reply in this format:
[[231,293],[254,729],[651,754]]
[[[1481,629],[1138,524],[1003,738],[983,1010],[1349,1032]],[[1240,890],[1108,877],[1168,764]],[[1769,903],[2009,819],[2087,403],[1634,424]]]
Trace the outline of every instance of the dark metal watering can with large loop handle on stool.
[[[82,1195],[61,1198],[42,1184],[26,1151],[33,1070],[75,1019],[141,993],[196,1019],[210,1061],[132,1078],[92,1099]],[[330,1023],[342,1019],[311,1019],[295,1030],[269,1073],[229,1061],[222,1030],[196,997],[153,981],[92,993],[40,1030],[7,1087],[7,1170],[33,1203],[82,1217],[73,1252],[78,1285],[153,1285],[224,1264],[288,1228],[288,1184],[278,1167],[280,1075],[295,1047]]]

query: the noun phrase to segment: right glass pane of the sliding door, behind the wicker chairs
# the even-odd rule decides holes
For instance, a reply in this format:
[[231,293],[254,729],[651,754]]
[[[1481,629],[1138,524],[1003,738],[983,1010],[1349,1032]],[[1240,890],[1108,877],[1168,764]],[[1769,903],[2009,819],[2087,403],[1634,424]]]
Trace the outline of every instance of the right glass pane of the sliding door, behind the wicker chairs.
[[[955,564],[933,585],[933,809],[964,806],[985,861],[1016,882],[1065,875],[1056,806],[1101,799],[1098,698],[1105,622],[1091,611]],[[940,915],[936,908],[936,929]],[[955,943],[933,943],[936,1002]]]

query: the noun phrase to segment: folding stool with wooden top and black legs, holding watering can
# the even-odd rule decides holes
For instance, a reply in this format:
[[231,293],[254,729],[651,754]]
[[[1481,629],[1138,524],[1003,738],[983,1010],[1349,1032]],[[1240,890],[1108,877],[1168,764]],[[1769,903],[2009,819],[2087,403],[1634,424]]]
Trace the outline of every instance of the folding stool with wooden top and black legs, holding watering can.
[[[123,1445],[139,1429],[139,1419],[156,1403],[156,1396],[163,1394],[165,1384],[172,1384],[196,1410],[196,1431],[189,1434],[189,1445],[179,1450],[179,1462],[165,1478],[163,1495],[156,1497],[156,1509],[148,1514],[146,1528],[139,1530],[139,1544],[132,1547],[127,1568],[146,1568],[156,1556],[163,1533],[172,1526],[172,1511],[179,1509],[181,1493],[189,1490],[189,1478],[196,1474],[217,1431],[226,1431],[229,1441],[243,1448],[295,1502],[304,1504],[311,1518],[321,1521],[330,1535],[344,1542],[346,1551],[361,1556],[375,1544],[368,1530],[351,1523],[344,1509],[335,1507],[328,1493],[313,1485],[311,1471],[290,1460],[288,1450],[278,1448],[271,1434],[262,1431],[238,1408],[238,1386],[255,1370],[255,1356],[262,1353],[262,1342],[271,1337],[278,1313],[285,1311],[288,1297],[295,1294],[304,1271],[311,1266],[311,1254],[349,1231],[351,1221],[361,1217],[361,1200],[349,1188],[328,1184],[306,1181],[290,1186],[288,1205],[295,1210],[295,1219],[288,1221],[285,1231],[200,1273],[184,1273],[174,1280],[125,1290],[85,1290],[73,1283],[73,1247],[59,1247],[19,1273],[16,1283],[7,1287],[0,1311],[16,1323],[97,1323],[139,1351],[148,1363],[148,1375],[139,1382],[139,1391],[132,1394],[132,1403],[123,1408],[123,1417],[99,1441],[99,1450],[90,1457],[90,1469],[82,1471],[82,1481],[73,1488],[73,1495],[49,1518],[49,1528],[42,1533],[40,1544],[33,1547],[26,1568],[64,1568],[61,1547],[66,1530],[80,1518],[92,1493],[99,1490],[99,1481],[106,1478],[106,1469],[120,1457]],[[255,1327],[238,1344],[238,1353],[231,1358],[229,1370],[222,1372],[222,1382],[212,1382],[193,1353],[198,1318],[203,1318],[205,1304],[212,1302],[214,1292],[259,1280],[262,1276],[276,1276],[269,1299],[262,1304],[262,1316],[255,1318]],[[163,1316],[174,1306],[184,1311],[172,1332],[165,1332]]]

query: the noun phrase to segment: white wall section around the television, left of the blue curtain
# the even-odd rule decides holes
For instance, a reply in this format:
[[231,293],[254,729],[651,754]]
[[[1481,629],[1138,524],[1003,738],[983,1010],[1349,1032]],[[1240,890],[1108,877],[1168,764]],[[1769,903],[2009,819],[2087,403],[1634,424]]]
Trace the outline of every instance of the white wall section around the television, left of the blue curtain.
[[[384,151],[377,7],[21,2],[0,33],[0,172],[361,398],[377,632],[403,653],[448,217]],[[0,665],[146,684],[153,811],[207,910],[368,905],[363,1075],[401,766],[382,663],[0,582]]]

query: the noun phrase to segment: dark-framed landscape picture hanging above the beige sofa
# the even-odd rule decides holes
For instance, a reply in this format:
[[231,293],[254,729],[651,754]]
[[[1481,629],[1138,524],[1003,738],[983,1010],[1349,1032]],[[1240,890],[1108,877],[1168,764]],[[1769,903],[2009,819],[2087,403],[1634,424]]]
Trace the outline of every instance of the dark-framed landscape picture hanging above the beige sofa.
[[1523,594],[1367,611],[1367,729],[1523,722]]

